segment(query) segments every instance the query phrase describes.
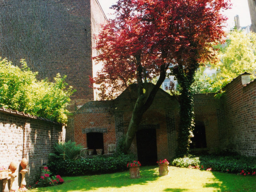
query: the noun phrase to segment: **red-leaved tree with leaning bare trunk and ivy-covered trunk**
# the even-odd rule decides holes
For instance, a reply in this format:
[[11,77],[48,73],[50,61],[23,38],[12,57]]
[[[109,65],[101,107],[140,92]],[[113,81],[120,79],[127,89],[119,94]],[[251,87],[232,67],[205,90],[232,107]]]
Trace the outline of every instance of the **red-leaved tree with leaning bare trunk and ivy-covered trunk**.
[[[181,87],[177,151],[178,155],[188,153],[194,118],[190,85],[198,66],[214,58],[212,45],[224,36],[226,18],[221,9],[229,6],[229,0],[119,0],[112,6],[116,18],[98,36],[100,54],[94,58],[104,65],[91,82],[101,85],[103,99],[115,97],[128,84],[138,84],[123,143],[125,153],[168,68]],[[159,78],[152,88],[148,81],[153,76]]]

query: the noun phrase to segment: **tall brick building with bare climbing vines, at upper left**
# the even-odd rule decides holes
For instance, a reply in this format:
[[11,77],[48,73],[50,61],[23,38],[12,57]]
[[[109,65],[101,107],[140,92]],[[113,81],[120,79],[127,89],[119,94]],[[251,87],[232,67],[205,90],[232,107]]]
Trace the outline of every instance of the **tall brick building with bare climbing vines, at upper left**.
[[0,57],[19,65],[25,59],[39,78],[67,75],[77,91],[74,103],[94,99],[89,76],[96,72],[93,34],[107,18],[98,0],[0,1]]

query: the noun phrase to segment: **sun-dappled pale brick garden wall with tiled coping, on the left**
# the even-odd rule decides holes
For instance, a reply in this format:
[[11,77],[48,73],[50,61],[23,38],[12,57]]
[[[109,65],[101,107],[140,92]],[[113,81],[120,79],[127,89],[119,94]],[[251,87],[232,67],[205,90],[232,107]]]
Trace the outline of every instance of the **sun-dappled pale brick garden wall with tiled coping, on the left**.
[[[41,173],[40,166],[48,163],[55,142],[65,141],[65,126],[37,116],[0,108],[0,165],[17,164],[14,184],[20,185],[20,161],[28,160],[27,185],[34,184]],[[0,181],[0,191],[2,191]]]

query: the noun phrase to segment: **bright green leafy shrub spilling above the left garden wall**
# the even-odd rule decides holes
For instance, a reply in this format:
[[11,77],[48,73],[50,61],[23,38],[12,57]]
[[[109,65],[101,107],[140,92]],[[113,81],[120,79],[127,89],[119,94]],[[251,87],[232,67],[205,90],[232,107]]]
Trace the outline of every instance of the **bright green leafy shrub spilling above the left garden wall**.
[[66,76],[57,74],[54,83],[37,81],[37,73],[30,71],[24,60],[20,62],[21,69],[0,58],[0,107],[65,123],[66,107],[74,92],[72,87],[67,88]]

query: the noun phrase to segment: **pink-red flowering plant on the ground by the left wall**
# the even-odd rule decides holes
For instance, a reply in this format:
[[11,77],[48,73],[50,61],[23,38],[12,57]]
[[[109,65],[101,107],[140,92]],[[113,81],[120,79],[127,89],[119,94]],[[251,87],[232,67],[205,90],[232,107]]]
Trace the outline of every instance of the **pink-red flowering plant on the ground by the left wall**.
[[36,181],[36,185],[39,186],[49,186],[49,185],[58,185],[62,184],[64,180],[60,177],[60,175],[52,176],[52,173],[48,169],[48,167],[44,167],[42,171],[42,176],[38,181]]

